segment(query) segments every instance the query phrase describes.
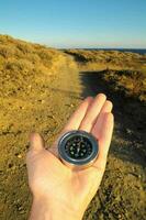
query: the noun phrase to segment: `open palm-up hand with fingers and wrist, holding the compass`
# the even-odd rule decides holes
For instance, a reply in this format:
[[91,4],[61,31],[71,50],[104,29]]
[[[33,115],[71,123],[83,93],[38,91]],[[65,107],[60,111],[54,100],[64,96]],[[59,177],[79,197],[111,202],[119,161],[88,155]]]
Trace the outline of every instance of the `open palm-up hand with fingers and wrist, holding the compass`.
[[[29,184],[33,194],[30,219],[81,219],[101,183],[113,132],[112,102],[105,95],[86,98],[70,117],[52,147],[32,133],[26,155]],[[99,156],[86,169],[74,169],[58,158],[58,139],[67,131],[85,130],[99,141]]]

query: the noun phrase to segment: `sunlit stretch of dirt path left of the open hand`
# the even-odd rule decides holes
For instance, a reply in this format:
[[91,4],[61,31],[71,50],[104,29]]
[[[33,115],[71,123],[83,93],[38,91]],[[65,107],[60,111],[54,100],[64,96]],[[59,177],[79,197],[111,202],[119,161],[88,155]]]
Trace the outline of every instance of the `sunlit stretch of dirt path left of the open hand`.
[[32,85],[30,94],[3,99],[1,103],[0,219],[26,219],[31,204],[25,153],[27,136],[35,130],[48,144],[55,140],[81,101],[77,72],[63,69]]

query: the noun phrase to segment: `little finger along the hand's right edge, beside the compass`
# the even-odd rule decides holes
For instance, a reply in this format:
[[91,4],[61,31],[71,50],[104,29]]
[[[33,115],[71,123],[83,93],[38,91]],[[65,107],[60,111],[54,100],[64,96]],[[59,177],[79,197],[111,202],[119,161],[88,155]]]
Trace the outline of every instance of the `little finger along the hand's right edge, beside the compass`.
[[106,156],[113,133],[114,118],[112,113],[104,113],[104,119],[99,136],[99,156],[94,162],[93,167],[104,172],[106,164]]

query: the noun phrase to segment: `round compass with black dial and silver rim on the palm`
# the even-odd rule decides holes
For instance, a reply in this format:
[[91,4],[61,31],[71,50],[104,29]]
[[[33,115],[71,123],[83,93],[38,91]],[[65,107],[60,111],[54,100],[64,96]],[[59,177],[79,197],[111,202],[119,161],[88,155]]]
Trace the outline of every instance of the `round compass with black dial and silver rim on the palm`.
[[68,166],[89,167],[99,153],[98,140],[86,131],[72,130],[59,139],[58,152]]

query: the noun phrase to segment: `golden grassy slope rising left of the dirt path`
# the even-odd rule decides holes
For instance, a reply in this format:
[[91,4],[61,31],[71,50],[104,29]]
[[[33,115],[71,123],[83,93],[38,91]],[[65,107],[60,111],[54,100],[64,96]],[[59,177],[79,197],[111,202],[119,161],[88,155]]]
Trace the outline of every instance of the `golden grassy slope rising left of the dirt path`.
[[27,94],[30,87],[46,77],[76,68],[72,58],[60,51],[0,35],[1,97]]

